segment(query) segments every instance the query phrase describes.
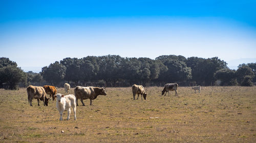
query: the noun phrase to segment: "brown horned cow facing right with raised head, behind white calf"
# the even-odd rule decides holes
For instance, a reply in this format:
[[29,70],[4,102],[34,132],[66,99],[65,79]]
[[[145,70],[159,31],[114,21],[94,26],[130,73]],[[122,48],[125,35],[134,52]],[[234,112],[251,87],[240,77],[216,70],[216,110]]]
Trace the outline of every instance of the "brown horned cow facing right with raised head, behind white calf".
[[76,97],[76,105],[78,106],[77,100],[80,99],[83,103],[83,99],[90,99],[90,105],[93,105],[93,100],[97,98],[98,95],[106,95],[105,88],[97,87],[80,87],[77,86],[74,90]]

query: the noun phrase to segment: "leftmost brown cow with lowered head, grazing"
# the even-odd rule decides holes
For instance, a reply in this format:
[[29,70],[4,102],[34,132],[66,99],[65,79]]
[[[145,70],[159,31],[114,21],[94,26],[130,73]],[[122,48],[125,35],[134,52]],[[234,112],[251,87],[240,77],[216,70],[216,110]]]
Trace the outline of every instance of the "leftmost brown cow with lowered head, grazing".
[[35,87],[33,85],[29,85],[27,87],[27,93],[28,93],[28,101],[30,103],[30,106],[32,105],[32,99],[37,99],[37,105],[39,106],[39,99],[44,102],[45,106],[48,106],[49,99],[46,95],[45,89],[42,87]]

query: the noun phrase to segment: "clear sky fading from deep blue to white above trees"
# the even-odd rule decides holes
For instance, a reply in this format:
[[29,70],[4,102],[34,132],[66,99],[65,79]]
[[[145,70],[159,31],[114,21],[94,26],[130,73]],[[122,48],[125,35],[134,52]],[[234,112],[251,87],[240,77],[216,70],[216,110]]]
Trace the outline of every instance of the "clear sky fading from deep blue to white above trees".
[[0,57],[24,71],[63,58],[218,56],[256,62],[256,1],[0,1]]

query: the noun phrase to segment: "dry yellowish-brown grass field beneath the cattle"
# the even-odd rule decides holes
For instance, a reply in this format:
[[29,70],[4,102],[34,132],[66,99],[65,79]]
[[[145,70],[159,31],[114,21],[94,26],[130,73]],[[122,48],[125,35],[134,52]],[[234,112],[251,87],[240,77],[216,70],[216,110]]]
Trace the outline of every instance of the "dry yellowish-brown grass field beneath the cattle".
[[256,141],[256,87],[202,87],[200,94],[179,87],[178,97],[145,89],[146,101],[132,100],[131,88],[107,88],[93,106],[78,102],[76,121],[73,112],[66,120],[67,111],[59,121],[56,101],[31,107],[25,88],[0,89],[0,142]]

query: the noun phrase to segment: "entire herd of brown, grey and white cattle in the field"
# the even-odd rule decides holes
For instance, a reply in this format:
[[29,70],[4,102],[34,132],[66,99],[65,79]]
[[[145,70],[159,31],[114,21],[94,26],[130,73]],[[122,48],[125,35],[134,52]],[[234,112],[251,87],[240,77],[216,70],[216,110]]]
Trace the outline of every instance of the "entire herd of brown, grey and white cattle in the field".
[[[68,93],[70,90],[70,85],[68,83],[65,83],[64,88],[65,88],[65,92]],[[177,89],[178,89],[177,83],[167,83],[164,85],[164,89],[162,90],[162,95],[165,96],[167,92],[169,95],[169,91],[175,91],[175,96],[178,96]],[[201,91],[200,86],[193,87],[192,89],[195,90],[195,93],[197,90],[199,91],[199,93]],[[30,106],[32,106],[32,99],[37,99],[38,106],[39,106],[39,99],[44,102],[45,106],[48,106],[50,97],[52,97],[53,100],[55,100],[55,98],[57,98],[56,107],[59,110],[59,114],[60,114],[59,120],[62,120],[62,115],[63,115],[64,110],[68,110],[67,120],[69,120],[71,107],[74,112],[74,119],[76,120],[76,106],[78,106],[78,103],[77,103],[78,99],[80,99],[83,106],[85,106],[83,103],[84,99],[90,99],[90,105],[93,105],[92,100],[96,99],[98,95],[106,95],[105,88],[98,88],[98,87],[77,86],[74,89],[75,95],[70,94],[70,95],[66,95],[66,96],[62,95],[62,94],[57,94],[56,88],[54,86],[50,86],[50,85],[44,85],[44,87],[36,87],[33,85],[29,85],[29,87],[27,87],[26,90],[28,93],[28,101],[30,103]],[[137,99],[139,98],[139,95],[141,95],[141,100],[143,100],[142,96],[146,100],[147,94],[142,85],[134,84],[132,86],[132,92],[133,92],[134,100],[135,100],[136,94],[138,94]],[[47,97],[47,94],[50,95],[49,98]]]

